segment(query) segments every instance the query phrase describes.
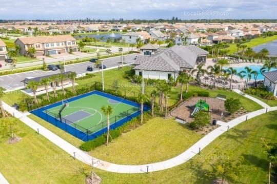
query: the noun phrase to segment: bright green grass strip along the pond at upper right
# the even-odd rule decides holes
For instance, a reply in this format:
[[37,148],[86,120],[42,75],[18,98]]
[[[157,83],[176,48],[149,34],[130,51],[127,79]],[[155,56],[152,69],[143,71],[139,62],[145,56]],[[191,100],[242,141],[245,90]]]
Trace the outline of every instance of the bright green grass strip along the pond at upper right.
[[[258,38],[251,39],[251,42],[247,42],[242,45],[246,45],[247,47],[255,47],[255,46],[258,46],[261,44],[265,44],[267,42],[271,42],[275,39],[277,39],[277,35],[267,36],[265,38],[258,37]],[[236,47],[236,44],[230,44],[230,47],[228,47],[227,49],[229,50],[228,54],[233,54],[237,51],[238,48]],[[241,51],[241,50],[242,50],[242,48],[239,49],[239,51]]]

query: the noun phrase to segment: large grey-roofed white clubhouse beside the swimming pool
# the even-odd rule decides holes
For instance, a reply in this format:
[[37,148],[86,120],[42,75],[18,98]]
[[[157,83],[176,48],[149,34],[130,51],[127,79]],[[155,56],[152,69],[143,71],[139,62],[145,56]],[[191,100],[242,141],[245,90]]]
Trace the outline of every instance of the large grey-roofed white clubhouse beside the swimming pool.
[[173,77],[175,80],[180,72],[191,72],[197,59],[203,59],[203,53],[207,56],[208,52],[202,50],[196,46],[173,46],[157,49],[151,56],[140,55],[135,61],[135,74],[152,79]]

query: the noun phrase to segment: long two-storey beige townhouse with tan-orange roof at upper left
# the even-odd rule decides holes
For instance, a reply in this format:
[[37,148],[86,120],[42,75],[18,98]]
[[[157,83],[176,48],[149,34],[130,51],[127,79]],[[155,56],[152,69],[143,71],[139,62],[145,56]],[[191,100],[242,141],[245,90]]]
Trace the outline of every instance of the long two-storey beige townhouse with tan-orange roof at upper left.
[[76,39],[71,35],[19,37],[14,44],[20,46],[20,55],[30,55],[29,48],[34,48],[34,57],[78,51]]

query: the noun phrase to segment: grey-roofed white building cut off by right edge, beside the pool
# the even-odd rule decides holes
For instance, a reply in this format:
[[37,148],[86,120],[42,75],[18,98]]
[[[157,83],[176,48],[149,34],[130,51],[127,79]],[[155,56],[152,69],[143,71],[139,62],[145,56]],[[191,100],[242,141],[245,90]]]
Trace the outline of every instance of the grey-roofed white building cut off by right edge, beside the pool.
[[264,86],[277,97],[277,70],[263,73],[265,76]]

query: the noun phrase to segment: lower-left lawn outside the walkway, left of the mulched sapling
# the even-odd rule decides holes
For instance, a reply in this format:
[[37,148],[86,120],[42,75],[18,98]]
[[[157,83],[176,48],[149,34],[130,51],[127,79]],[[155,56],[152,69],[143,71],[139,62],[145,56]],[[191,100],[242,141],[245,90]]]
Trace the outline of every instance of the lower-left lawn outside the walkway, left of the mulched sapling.
[[0,139],[0,171],[11,184],[84,183],[85,175],[78,171],[87,166],[19,120],[15,130],[21,141],[8,145]]

